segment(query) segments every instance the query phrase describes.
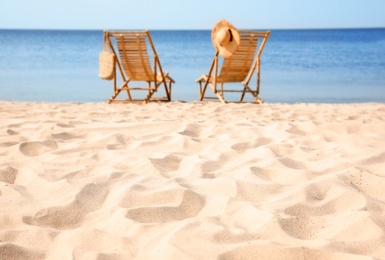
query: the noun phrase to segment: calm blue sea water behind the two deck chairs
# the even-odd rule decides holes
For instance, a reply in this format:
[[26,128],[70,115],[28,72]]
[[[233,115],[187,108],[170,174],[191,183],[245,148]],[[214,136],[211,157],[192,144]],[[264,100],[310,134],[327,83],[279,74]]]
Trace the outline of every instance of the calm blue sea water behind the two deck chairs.
[[[151,31],[173,100],[199,99],[214,48],[209,30]],[[0,100],[104,102],[102,31],[0,30]],[[208,90],[210,91],[210,90]],[[263,100],[385,102],[385,29],[272,30],[261,59]]]

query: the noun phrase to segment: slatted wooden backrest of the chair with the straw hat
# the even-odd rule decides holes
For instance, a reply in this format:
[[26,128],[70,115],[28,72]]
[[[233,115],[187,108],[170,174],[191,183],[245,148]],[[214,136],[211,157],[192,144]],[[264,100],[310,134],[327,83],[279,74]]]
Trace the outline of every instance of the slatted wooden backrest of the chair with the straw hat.
[[[224,58],[217,82],[242,82],[254,72],[256,59],[260,59],[262,49],[268,37],[266,32],[240,30],[241,42],[238,49],[229,58]],[[258,40],[259,45],[258,45]],[[259,47],[256,53],[257,47]]]

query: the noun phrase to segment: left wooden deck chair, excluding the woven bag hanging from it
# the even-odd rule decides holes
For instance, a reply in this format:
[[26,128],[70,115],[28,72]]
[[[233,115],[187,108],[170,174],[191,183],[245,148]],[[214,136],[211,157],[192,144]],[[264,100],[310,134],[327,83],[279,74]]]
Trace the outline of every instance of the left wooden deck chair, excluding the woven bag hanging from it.
[[[146,31],[105,31],[107,41],[112,52],[117,57],[114,76],[114,94],[109,99],[109,103],[137,102],[143,101],[171,101],[171,86],[175,81],[164,72],[160,63],[155,46],[151,39],[150,32]],[[115,51],[114,45],[117,47]],[[148,48],[148,46],[150,48]],[[148,51],[149,50],[149,51]],[[150,62],[150,57],[153,62]],[[120,73],[122,85],[117,87],[116,74]],[[146,83],[144,86],[138,86],[138,82]],[[135,86],[134,86],[135,85]],[[158,88],[163,86],[165,96],[154,97]],[[143,91],[141,98],[133,98],[133,91]],[[125,91],[128,99],[118,100],[117,96]]]

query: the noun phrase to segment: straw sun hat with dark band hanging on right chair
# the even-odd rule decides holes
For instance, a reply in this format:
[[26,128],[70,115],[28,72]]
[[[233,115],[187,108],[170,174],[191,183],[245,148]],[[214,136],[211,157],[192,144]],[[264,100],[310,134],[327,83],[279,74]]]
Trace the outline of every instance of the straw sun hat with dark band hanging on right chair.
[[238,48],[241,37],[238,30],[226,20],[219,21],[211,31],[211,40],[219,55],[228,58]]

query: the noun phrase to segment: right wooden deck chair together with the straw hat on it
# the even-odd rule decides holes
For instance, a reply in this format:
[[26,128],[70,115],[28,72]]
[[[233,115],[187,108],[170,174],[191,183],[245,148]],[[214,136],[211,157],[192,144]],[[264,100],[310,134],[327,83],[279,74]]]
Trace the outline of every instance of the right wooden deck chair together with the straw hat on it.
[[[225,93],[240,93],[238,102],[244,102],[246,93],[250,93],[254,103],[263,103],[259,97],[260,89],[260,58],[263,48],[270,36],[270,31],[237,30],[226,20],[219,21],[211,32],[211,39],[216,50],[209,73],[196,80],[199,83],[200,101],[209,98],[226,100]],[[220,58],[221,56],[222,58]],[[218,73],[218,67],[221,66]],[[250,81],[256,74],[256,86],[250,87]],[[240,83],[236,88],[230,84]],[[218,87],[219,85],[219,87]],[[205,96],[210,86],[214,97]]]

